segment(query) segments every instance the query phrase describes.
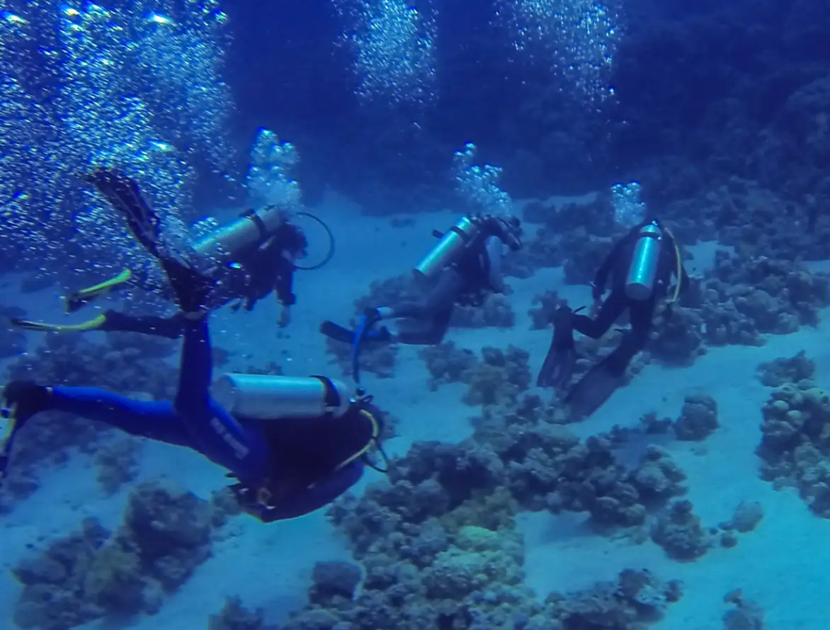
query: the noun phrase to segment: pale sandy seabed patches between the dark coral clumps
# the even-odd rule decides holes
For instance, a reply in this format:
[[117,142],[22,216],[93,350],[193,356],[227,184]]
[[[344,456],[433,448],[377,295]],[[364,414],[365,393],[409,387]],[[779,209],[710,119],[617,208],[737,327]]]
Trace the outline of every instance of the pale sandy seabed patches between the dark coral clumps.
[[[332,266],[297,276],[299,304],[287,338],[276,334],[276,305],[263,301],[251,314],[222,312],[212,317],[214,343],[232,350],[230,369],[266,364],[274,359],[287,374],[336,374],[317,333],[320,320],[345,321],[353,300],[363,295],[375,278],[407,271],[432,242],[432,227],[442,229],[452,214],[414,217],[411,227],[389,227],[389,219],[359,217],[339,204],[320,211],[339,235]],[[714,248],[695,248],[696,266],[705,268]],[[517,324],[515,330],[452,330],[449,339],[478,350],[482,345],[516,344],[531,351],[531,367],[539,369],[549,343],[549,331],[530,331],[526,311],[533,295],[559,289],[574,304],[587,303],[585,287],[561,287],[560,270],[543,270],[527,281],[511,280]],[[22,297],[32,317],[54,319],[60,304],[49,292]],[[83,319],[88,313],[76,316]],[[828,320],[828,317],[824,318]],[[827,330],[825,330],[827,329]],[[789,357],[801,349],[818,366],[818,382],[830,375],[830,349],[823,343],[830,326],[804,329],[794,335],[770,338],[763,348],[712,349],[688,369],[647,367],[627,388],[616,393],[588,422],[574,427],[580,435],[607,430],[613,424],[635,425],[648,412],[676,418],[687,393],[704,391],[719,405],[721,427],[699,447],[680,442],[666,447],[689,475],[689,498],[707,525],[732,515],[740,501],[760,501],[766,516],[754,533],[741,535],[735,549],[713,549],[694,563],[666,559],[662,549],[647,543],[631,545],[590,535],[582,515],[554,517],[522,515],[527,540],[528,583],[540,594],[583,588],[598,579],[613,579],[625,568],[648,568],[666,578],[682,579],[686,595],[674,604],[660,630],[715,630],[721,628],[723,595],[743,588],[762,603],[769,628],[824,630],[823,595],[827,593],[825,567],[830,562],[830,522],[811,515],[793,492],[776,493],[757,476],[760,406],[768,397],[755,377],[762,361]],[[93,335],[90,339],[95,339]],[[35,341],[37,335],[32,336]],[[100,337],[99,337],[100,338]],[[365,377],[365,384],[384,408],[402,419],[400,437],[390,450],[403,452],[413,441],[459,441],[471,433],[468,418],[476,409],[460,402],[463,387],[427,390],[427,370],[417,349],[402,348],[397,376]],[[90,383],[92,384],[92,383]],[[546,394],[547,395],[547,394]],[[199,496],[222,486],[222,471],[182,449],[145,442],[141,450],[140,479],[167,476]],[[374,481],[376,473],[365,481]],[[26,551],[27,544],[45,541],[73,530],[86,515],[105,525],[120,520],[126,489],[106,497],[95,481],[89,457],[73,454],[60,470],[44,474],[41,490],[2,518],[0,539],[0,609],[10,610],[19,593],[7,568]],[[347,558],[344,542],[322,513],[291,522],[259,525],[241,517],[229,525],[227,540],[215,545],[212,559],[200,567],[179,593],[169,598],[154,618],[139,619],[135,628],[178,630],[203,627],[208,613],[222,607],[225,596],[239,594],[251,607],[265,608],[278,620],[302,605],[316,561]],[[2,627],[2,624],[0,624]],[[91,624],[98,628],[99,624]]]

